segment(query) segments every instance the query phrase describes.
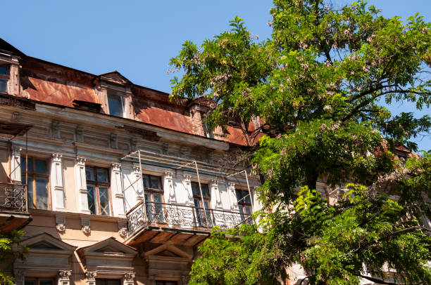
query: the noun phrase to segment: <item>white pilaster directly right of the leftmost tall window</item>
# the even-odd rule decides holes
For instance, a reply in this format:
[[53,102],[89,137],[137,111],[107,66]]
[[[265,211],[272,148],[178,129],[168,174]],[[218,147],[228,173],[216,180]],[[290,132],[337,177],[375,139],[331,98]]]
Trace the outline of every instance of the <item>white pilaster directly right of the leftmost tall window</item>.
[[59,153],[52,154],[51,159],[51,197],[54,211],[65,209],[65,194],[63,182],[63,156]]

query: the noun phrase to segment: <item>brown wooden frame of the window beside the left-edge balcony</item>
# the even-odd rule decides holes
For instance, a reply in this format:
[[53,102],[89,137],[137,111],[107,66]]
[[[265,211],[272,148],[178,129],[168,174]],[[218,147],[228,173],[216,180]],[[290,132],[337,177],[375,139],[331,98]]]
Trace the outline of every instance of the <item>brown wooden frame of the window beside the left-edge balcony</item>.
[[[21,183],[25,184],[27,187],[27,208],[31,208],[31,209],[36,209],[36,210],[51,210],[51,191],[49,191],[51,189],[51,183],[49,181],[49,173],[50,173],[50,164],[49,164],[49,160],[48,159],[43,159],[43,158],[39,158],[39,157],[27,157],[27,161],[30,161],[30,159],[32,160],[32,169],[33,171],[27,171],[28,167],[25,168],[23,167],[23,161],[22,159],[24,159],[25,161],[25,157],[20,157],[21,161],[20,161],[20,167],[21,167]],[[46,162],[46,173],[40,173],[40,172],[36,172],[36,160],[39,161],[45,161]],[[27,161],[25,161],[24,163],[27,164]],[[25,181],[25,173],[27,171],[27,181]],[[32,191],[33,191],[33,197],[32,197],[32,201],[33,201],[33,205],[30,206],[29,203],[29,199],[28,199],[28,182],[29,179],[28,178],[32,178]],[[37,185],[36,185],[36,178],[46,178],[46,199],[47,199],[47,205],[46,208],[37,208]],[[36,202],[36,204],[35,204]]]

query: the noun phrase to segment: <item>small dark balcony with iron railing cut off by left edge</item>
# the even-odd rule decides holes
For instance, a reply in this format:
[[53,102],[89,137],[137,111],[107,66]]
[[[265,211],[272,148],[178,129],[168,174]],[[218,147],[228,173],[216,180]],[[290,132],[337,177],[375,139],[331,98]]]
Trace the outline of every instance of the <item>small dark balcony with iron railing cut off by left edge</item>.
[[20,230],[31,220],[27,212],[26,185],[0,183],[0,232]]

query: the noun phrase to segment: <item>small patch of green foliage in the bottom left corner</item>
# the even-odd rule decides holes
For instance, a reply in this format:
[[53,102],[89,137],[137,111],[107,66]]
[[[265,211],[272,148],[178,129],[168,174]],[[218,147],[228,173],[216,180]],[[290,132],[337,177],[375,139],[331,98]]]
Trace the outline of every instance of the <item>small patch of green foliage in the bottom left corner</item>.
[[[24,259],[27,248],[20,246],[21,237],[24,232],[22,230],[13,230],[10,234],[0,234],[0,263],[10,267],[13,260],[16,258]],[[0,270],[0,283],[13,285],[13,277],[6,275]]]

